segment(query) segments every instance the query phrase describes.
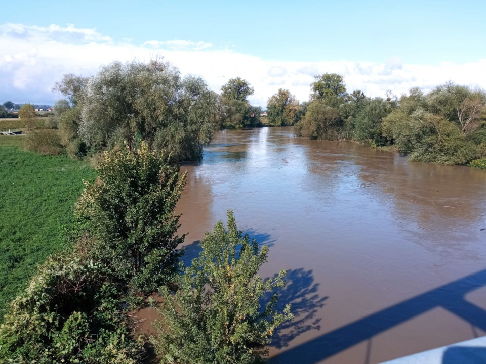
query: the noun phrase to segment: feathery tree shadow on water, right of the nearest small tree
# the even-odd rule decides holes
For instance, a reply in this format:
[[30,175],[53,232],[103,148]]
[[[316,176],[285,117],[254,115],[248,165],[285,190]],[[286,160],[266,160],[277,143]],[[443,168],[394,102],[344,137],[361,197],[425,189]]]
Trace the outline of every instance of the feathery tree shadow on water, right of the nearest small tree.
[[[283,311],[287,304],[291,304],[294,321],[287,321],[275,330],[272,346],[279,349],[287,347],[293,339],[304,332],[320,330],[320,319],[315,319],[315,315],[328,299],[328,297],[319,297],[317,294],[319,284],[314,283],[312,270],[304,268],[288,270],[285,280],[285,287],[276,290],[278,294],[276,308],[278,311]],[[268,292],[262,298],[262,306],[272,295],[273,292]]]

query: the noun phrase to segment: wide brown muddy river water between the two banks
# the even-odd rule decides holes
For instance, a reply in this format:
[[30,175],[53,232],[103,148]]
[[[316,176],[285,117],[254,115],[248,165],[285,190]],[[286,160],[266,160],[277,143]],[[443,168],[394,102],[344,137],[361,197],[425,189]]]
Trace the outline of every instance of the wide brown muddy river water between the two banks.
[[184,258],[233,209],[288,270],[271,363],[390,360],[486,335],[486,171],[409,162],[292,128],[216,132],[178,211]]

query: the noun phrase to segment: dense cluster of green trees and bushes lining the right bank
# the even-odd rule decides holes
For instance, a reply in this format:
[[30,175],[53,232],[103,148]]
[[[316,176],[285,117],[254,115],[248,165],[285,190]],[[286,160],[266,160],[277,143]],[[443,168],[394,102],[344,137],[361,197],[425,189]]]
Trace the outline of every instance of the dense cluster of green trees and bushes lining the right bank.
[[467,164],[486,155],[486,93],[453,83],[400,99],[346,92],[336,74],[316,76],[295,133],[311,139],[352,139],[372,147],[394,144],[411,160]]

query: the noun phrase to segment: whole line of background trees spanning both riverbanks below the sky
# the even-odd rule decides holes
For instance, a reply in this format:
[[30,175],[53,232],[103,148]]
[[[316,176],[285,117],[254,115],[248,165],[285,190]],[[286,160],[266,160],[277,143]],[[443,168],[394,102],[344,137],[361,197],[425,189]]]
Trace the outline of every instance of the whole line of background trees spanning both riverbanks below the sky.
[[60,132],[50,138],[39,132],[38,139],[74,158],[138,138],[173,161],[200,160],[215,129],[264,123],[294,125],[296,135],[311,139],[391,146],[417,161],[467,164],[486,157],[486,93],[452,82],[430,92],[412,88],[400,98],[391,92],[370,98],[361,90],[349,93],[343,76],[325,73],[314,77],[308,101],[279,89],[266,116],[250,104],[254,89],[247,80],[232,78],[218,94],[163,60],[113,62],[92,77],[65,75],[54,89],[67,98],[49,120]]

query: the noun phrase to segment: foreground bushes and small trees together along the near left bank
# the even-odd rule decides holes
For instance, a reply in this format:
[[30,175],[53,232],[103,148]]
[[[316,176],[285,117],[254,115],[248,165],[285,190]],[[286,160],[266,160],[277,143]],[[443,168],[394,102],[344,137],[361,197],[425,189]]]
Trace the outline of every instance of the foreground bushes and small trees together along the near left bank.
[[292,319],[290,306],[275,309],[276,294],[260,300],[285,284],[283,270],[268,280],[257,275],[268,247],[242,236],[228,212],[229,232],[218,222],[184,268],[177,246],[185,235],[176,235],[174,214],[185,186],[179,167],[138,142],[104,152],[97,172],[76,204],[64,250],[39,265],[6,310],[0,361],[141,363],[148,338],[134,337],[129,309],[160,292],[151,341],[162,362],[262,362],[263,345]]

